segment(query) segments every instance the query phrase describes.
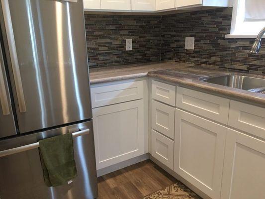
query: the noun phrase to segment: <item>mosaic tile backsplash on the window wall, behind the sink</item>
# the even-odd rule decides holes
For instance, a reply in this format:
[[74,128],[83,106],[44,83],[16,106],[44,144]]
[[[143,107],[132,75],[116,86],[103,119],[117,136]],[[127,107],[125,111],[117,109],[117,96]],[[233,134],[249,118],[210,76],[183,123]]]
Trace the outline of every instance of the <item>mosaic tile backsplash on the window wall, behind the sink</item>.
[[[232,8],[162,16],[162,59],[265,74],[265,46],[250,54],[255,39],[228,39]],[[185,50],[185,37],[195,37],[194,50]]]

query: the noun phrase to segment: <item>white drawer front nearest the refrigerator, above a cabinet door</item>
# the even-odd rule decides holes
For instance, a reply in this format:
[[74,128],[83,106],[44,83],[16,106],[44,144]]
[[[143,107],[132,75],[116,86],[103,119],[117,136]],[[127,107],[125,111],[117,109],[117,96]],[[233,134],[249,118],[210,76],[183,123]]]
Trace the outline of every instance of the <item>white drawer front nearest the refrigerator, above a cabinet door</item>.
[[92,108],[143,99],[143,81],[91,86]]

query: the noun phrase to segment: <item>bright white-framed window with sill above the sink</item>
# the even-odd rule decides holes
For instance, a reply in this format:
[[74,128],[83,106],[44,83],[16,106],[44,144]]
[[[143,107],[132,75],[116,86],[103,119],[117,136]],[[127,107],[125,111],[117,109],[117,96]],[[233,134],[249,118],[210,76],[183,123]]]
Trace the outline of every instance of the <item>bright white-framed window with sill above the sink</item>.
[[256,38],[265,27],[265,0],[234,0],[231,33],[227,38]]

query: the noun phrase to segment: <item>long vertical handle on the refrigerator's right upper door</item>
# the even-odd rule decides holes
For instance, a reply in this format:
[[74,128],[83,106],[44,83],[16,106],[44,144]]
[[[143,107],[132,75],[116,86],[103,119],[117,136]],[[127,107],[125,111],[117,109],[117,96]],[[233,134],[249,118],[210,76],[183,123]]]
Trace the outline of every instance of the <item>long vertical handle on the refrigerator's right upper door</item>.
[[10,54],[12,71],[13,71],[13,76],[14,76],[14,83],[15,83],[19,111],[26,112],[26,103],[25,103],[25,98],[24,98],[24,93],[23,93],[22,80],[21,80],[21,75],[20,75],[20,70],[19,70],[19,63],[18,63],[18,58],[17,58],[15,38],[14,38],[14,32],[13,32],[13,27],[12,27],[11,14],[10,14],[8,0],[1,0],[1,4],[2,4],[3,19],[4,19],[5,29],[6,29],[6,36],[7,36],[7,42],[8,42],[8,47],[9,47],[9,54]]

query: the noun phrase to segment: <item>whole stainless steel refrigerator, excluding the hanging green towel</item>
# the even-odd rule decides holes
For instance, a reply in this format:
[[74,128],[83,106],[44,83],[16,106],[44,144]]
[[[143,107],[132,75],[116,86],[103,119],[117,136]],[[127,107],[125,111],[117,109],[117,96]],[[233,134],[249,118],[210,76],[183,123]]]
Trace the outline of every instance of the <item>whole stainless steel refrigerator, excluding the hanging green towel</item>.
[[[0,0],[0,199],[94,199],[83,0]],[[78,177],[46,187],[40,139],[74,133]]]

